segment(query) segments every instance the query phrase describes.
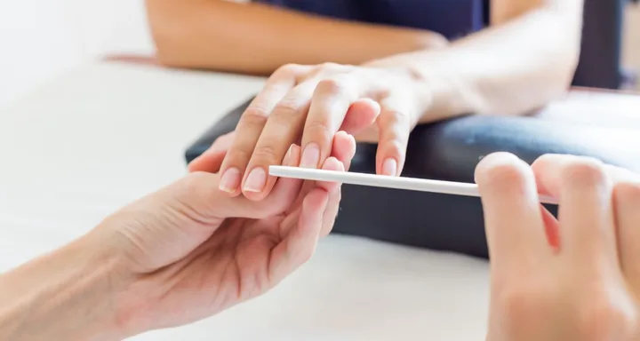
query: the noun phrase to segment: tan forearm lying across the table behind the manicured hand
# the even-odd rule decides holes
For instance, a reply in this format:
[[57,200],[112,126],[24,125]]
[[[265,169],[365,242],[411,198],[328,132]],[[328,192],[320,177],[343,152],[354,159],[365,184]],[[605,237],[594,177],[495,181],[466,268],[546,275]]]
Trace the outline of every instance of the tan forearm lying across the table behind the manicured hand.
[[158,59],[172,67],[268,75],[287,63],[361,64],[442,47],[428,31],[220,0],[147,0]]

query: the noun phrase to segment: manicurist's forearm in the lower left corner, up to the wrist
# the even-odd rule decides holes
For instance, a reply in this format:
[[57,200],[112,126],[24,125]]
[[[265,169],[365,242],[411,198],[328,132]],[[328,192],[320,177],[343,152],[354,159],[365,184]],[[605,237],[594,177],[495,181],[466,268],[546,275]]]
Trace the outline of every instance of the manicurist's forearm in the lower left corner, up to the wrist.
[[119,339],[115,258],[84,237],[0,277],[0,339]]

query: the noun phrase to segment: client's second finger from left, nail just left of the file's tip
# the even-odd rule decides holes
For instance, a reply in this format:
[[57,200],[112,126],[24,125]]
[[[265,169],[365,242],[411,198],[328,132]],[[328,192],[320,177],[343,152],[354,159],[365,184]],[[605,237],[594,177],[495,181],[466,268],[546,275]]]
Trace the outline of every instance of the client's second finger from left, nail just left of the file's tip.
[[287,148],[300,139],[315,86],[313,81],[297,85],[269,116],[244,174],[243,194],[247,198],[264,199],[276,183],[276,177],[268,176],[268,166],[282,164]]

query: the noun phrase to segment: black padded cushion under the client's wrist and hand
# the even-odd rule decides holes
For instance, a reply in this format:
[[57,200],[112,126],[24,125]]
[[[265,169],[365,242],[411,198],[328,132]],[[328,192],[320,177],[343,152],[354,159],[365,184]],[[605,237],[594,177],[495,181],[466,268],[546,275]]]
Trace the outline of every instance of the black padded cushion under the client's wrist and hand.
[[[187,162],[236,128],[248,101],[188,147]],[[507,151],[532,163],[548,153],[588,155],[640,171],[640,130],[553,121],[538,116],[464,116],[421,125],[407,148],[403,176],[473,182],[484,156]],[[376,146],[359,143],[351,171],[375,172]],[[334,233],[354,234],[433,250],[486,258],[480,200],[449,194],[343,186]],[[555,206],[548,206],[556,214]]]

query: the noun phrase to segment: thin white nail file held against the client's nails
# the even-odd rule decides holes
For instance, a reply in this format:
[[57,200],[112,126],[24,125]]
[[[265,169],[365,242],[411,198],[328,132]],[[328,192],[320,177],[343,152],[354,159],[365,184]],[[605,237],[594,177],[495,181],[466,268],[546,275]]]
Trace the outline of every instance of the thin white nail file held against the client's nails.
[[[331,181],[349,185],[374,186],[405,189],[410,191],[480,196],[476,184],[431,180],[426,178],[390,177],[351,171],[325,171],[289,166],[269,166],[269,174],[280,178],[300,178],[303,180]],[[557,204],[556,199],[540,196],[540,202]]]

